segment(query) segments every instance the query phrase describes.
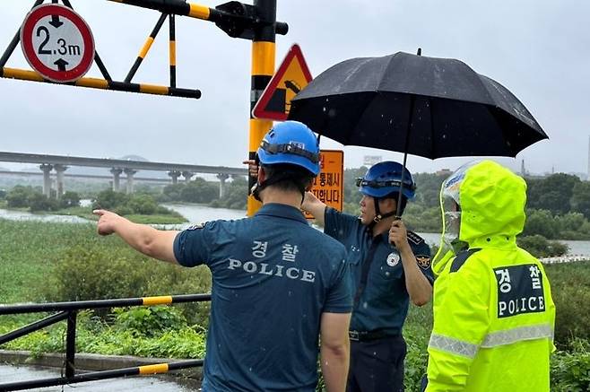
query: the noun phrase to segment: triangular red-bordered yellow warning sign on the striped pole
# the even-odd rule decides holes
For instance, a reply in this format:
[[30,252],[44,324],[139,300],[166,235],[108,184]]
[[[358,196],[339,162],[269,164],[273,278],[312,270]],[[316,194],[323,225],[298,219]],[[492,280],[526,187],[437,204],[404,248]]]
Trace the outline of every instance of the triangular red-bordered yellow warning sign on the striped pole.
[[291,100],[311,79],[301,48],[294,44],[256,102],[252,115],[255,118],[285,121],[291,109]]

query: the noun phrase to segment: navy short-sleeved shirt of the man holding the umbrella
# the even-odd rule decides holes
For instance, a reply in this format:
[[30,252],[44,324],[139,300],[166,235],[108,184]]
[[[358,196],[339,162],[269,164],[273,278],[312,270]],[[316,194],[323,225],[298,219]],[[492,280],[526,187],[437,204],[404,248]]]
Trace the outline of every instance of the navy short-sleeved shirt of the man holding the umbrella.
[[[408,313],[410,297],[405,288],[402,260],[395,246],[389,244],[389,233],[385,232],[374,240],[371,231],[357,217],[339,213],[334,208],[325,209],[324,232],[342,242],[348,251],[352,292],[356,293],[358,290],[363,261],[369,253],[373,255],[367,260],[370,261],[370,266],[366,287],[360,298],[355,299],[357,301],[352,311],[351,330],[379,330],[390,335],[400,334]],[[412,231],[408,231],[408,242],[422,274],[432,283],[434,276],[430,269],[428,244]]]

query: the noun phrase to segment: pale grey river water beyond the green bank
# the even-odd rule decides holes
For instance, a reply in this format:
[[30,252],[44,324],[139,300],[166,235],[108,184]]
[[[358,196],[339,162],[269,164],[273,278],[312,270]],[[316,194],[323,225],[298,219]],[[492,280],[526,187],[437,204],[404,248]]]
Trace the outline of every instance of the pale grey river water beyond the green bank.
[[[82,200],[82,205],[90,205],[90,201]],[[246,217],[246,211],[230,210],[227,208],[212,208],[205,205],[191,204],[166,204],[164,205],[187,218],[187,223],[175,225],[158,225],[166,229],[182,230],[193,223],[207,222],[214,219],[240,219]],[[77,216],[52,215],[52,214],[34,214],[23,211],[11,211],[0,209],[0,218],[13,221],[40,221],[40,222],[68,222],[68,223],[86,223],[90,222]],[[419,233],[424,240],[430,245],[437,245],[440,240],[439,233]],[[568,256],[590,256],[590,241],[588,240],[560,240],[568,245]]]

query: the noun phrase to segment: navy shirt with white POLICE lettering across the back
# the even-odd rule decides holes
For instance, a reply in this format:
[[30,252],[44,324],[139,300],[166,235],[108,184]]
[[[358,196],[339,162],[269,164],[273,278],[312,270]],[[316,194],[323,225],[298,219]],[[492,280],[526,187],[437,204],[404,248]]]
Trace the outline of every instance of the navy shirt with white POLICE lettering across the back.
[[289,205],[178,233],[182,266],[212,272],[204,391],[314,391],[323,312],[349,313],[342,244]]

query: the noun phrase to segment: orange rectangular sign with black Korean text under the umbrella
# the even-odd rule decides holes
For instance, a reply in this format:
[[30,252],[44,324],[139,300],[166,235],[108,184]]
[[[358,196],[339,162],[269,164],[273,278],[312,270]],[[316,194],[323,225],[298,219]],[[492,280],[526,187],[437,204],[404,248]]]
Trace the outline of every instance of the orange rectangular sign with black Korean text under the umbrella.
[[[339,150],[321,150],[319,152],[320,171],[314,180],[311,191],[325,205],[343,210],[344,191],[344,152]],[[313,216],[306,213],[306,218]]]

